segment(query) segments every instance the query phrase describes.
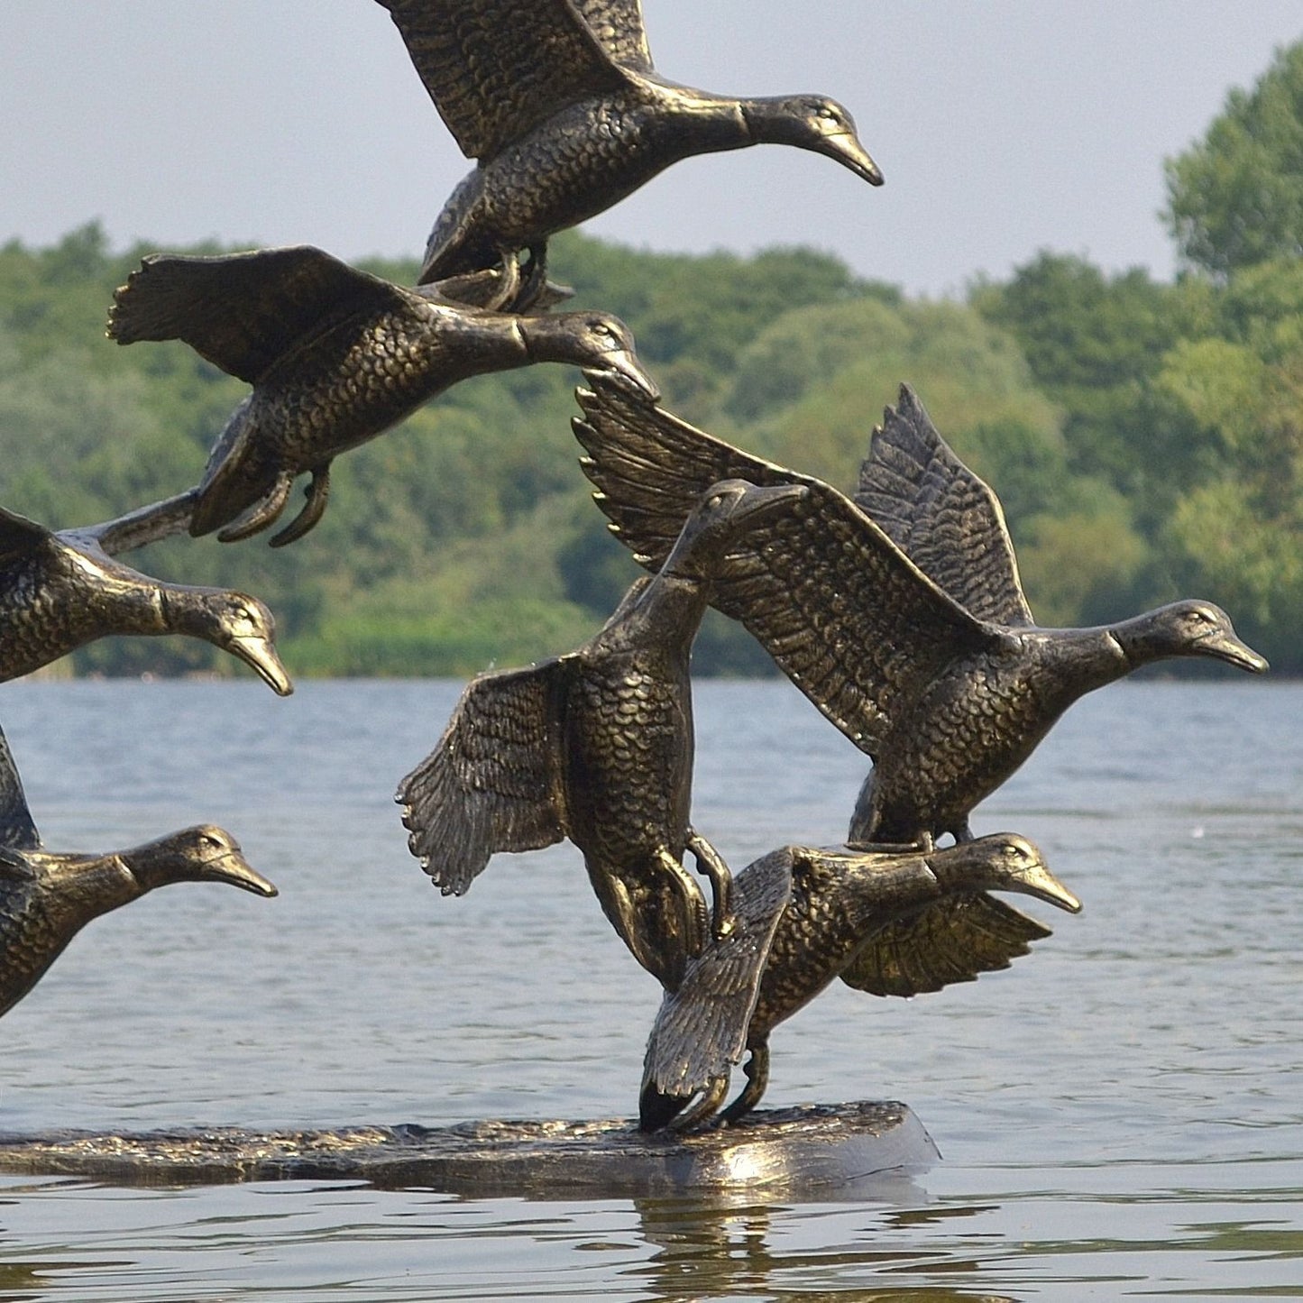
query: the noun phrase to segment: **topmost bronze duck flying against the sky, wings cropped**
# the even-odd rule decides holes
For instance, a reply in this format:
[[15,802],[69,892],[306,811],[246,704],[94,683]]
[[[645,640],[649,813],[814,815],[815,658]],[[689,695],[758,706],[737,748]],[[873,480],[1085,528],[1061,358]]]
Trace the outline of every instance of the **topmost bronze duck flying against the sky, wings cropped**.
[[736,99],[679,86],[652,64],[640,0],[379,0],[439,116],[478,165],[439,214],[421,281],[502,265],[533,275],[547,237],[632,194],[680,159],[748,145],[882,173],[851,115],[820,95]]

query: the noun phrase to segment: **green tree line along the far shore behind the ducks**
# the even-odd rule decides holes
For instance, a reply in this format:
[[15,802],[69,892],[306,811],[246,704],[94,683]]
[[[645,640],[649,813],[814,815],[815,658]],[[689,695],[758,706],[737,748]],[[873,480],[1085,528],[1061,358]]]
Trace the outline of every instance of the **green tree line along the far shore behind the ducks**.
[[[575,306],[628,322],[670,409],[842,487],[908,380],[999,494],[1041,623],[1201,595],[1274,668],[1299,672],[1299,177],[1303,44],[1169,160],[1184,259],[1171,283],[1042,251],[1005,283],[934,302],[808,249],[657,254],[577,232],[554,241],[551,270]],[[198,481],[246,390],[182,344],[104,337],[113,288],[150,251],[111,249],[94,223],[51,248],[0,248],[4,507],[64,528]],[[364,266],[407,283],[417,270]],[[577,466],[579,380],[543,365],[453,387],[340,457],[324,520],[292,547],[173,539],[129,560],[262,597],[298,675],[460,675],[568,650],[636,575]],[[106,674],[227,662],[182,638],[74,657]],[[767,668],[723,619],[708,622],[696,663]]]

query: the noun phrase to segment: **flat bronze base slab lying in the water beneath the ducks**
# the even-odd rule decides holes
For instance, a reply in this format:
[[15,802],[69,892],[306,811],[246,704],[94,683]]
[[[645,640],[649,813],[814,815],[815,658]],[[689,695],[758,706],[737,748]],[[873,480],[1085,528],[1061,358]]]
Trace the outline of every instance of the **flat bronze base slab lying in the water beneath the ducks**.
[[681,1138],[624,1121],[0,1136],[0,1171],[129,1186],[352,1178],[480,1197],[866,1197],[936,1158],[919,1119],[893,1102],[775,1109]]

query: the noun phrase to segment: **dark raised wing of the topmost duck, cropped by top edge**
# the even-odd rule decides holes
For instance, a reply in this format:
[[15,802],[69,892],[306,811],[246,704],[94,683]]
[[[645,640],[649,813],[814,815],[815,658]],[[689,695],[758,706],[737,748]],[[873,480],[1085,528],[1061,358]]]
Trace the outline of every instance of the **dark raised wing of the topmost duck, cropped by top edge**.
[[378,3],[461,152],[481,163],[568,104],[625,85],[573,0]]

